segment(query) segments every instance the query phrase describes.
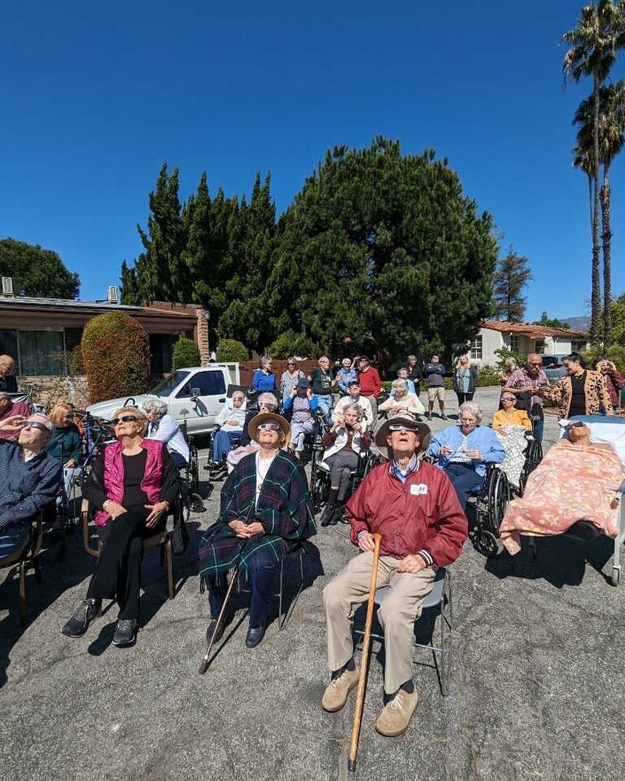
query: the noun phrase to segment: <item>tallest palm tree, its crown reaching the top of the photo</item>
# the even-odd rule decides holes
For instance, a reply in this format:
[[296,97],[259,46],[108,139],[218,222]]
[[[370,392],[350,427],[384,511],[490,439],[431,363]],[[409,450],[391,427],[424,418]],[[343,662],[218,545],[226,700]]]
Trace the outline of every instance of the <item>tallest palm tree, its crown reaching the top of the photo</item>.
[[599,284],[599,90],[609,76],[616,53],[625,47],[625,0],[598,0],[584,5],[577,27],[563,34],[569,46],[563,60],[563,73],[574,82],[590,76],[593,81],[593,155],[594,204],[592,210],[592,295],[591,341],[599,341],[601,289]]

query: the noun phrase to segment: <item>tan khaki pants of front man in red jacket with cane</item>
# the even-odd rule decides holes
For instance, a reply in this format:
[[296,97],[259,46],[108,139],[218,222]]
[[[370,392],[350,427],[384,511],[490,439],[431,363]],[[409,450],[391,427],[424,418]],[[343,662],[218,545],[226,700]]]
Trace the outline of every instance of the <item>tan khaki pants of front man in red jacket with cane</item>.
[[[432,590],[436,572],[398,572],[398,558],[380,556],[376,588],[391,587],[377,611],[384,629],[386,664],[384,691],[394,694],[413,677],[413,625],[421,615],[423,598]],[[366,601],[371,581],[373,553],[360,553],[323,589],[326,608],[327,665],[331,671],[346,665],[354,652],[352,624],[358,604]]]

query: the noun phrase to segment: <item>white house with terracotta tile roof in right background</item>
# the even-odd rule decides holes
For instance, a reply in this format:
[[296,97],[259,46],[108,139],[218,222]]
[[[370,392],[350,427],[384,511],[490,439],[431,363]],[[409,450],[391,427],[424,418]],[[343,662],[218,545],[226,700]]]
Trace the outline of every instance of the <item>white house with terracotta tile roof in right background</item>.
[[537,352],[538,355],[559,355],[584,350],[588,344],[589,336],[586,331],[486,320],[477,336],[470,341],[468,355],[472,363],[494,366],[499,360],[495,350],[501,348],[508,348],[526,358],[531,352]]

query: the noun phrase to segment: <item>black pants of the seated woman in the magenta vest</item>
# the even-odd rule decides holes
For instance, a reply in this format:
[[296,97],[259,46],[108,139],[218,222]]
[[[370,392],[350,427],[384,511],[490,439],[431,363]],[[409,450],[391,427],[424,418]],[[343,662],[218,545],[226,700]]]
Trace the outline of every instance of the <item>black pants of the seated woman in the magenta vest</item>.
[[150,511],[131,507],[99,529],[102,549],[89,583],[87,599],[116,599],[120,619],[139,618],[141,562],[143,540],[158,533],[166,524],[161,516],[156,526],[148,529],[145,519]]

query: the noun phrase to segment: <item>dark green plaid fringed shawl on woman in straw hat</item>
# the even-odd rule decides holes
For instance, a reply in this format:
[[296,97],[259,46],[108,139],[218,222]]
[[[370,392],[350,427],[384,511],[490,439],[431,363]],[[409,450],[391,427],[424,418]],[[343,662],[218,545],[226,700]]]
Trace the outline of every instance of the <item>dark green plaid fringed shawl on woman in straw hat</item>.
[[[200,540],[200,580],[232,569],[241,548],[241,569],[246,572],[249,558],[265,547],[276,562],[289,544],[298,543],[316,534],[313,505],[308,482],[299,462],[285,451],[278,451],[256,497],[256,454],[242,458],[228,476],[221,490],[219,518]],[[264,534],[242,540],[228,526],[230,521],[259,521]]]

